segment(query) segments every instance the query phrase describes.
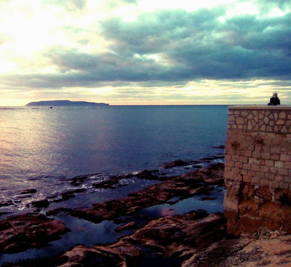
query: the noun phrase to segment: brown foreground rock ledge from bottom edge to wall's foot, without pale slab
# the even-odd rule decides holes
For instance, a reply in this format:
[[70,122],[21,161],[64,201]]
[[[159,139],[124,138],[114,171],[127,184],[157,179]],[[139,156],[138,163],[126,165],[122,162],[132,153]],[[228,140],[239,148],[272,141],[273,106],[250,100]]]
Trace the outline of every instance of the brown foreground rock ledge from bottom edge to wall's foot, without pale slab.
[[[139,266],[149,247],[153,254],[162,257],[190,258],[225,235],[225,218],[222,214],[191,212],[153,220],[133,235],[112,245],[85,247],[77,245],[60,257],[61,267],[86,266],[98,262],[100,266]],[[140,248],[141,246],[141,248]],[[103,264],[103,265],[102,265]]]

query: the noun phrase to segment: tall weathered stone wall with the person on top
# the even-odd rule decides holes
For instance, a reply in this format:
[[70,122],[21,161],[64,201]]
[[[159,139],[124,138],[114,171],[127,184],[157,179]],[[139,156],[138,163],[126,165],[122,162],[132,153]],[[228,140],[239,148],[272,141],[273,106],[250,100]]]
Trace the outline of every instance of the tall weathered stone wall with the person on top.
[[225,144],[228,233],[291,233],[291,107],[231,106]]

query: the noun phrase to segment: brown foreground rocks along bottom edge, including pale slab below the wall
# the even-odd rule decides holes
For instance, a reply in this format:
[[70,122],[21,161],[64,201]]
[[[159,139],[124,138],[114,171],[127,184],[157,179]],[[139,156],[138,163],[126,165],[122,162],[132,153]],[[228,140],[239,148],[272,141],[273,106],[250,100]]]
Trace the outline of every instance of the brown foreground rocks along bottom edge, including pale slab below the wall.
[[161,217],[114,244],[77,245],[58,259],[62,263],[59,266],[98,263],[107,267],[137,267],[145,256],[144,247],[150,248],[153,256],[178,259],[181,267],[290,266],[290,235],[273,240],[226,239],[225,222],[222,214],[203,211]]

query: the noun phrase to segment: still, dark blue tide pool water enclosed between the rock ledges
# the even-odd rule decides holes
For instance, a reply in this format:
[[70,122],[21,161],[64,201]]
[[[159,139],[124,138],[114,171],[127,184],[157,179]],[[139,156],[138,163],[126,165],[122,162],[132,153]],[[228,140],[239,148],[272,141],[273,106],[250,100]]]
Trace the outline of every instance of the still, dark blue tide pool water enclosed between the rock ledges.
[[[193,210],[204,209],[209,213],[223,212],[223,197],[225,194],[224,187],[214,186],[214,190],[210,191],[211,197],[215,200],[201,201],[201,196],[194,196],[180,200],[176,204],[160,204],[148,208],[141,209],[136,216],[128,216],[128,222],[136,222],[138,227],[145,225],[148,221],[157,219],[166,215],[185,214]],[[176,199],[172,199],[176,200]],[[170,200],[170,201],[172,201]],[[125,230],[115,232],[114,229],[124,225],[125,223],[115,224],[112,221],[102,221],[101,223],[93,223],[67,214],[52,216],[61,220],[71,229],[70,232],[64,234],[60,240],[50,242],[49,247],[42,249],[28,249],[25,252],[15,254],[0,254],[0,264],[7,262],[15,262],[23,259],[34,259],[43,257],[52,257],[61,252],[65,252],[76,244],[85,246],[93,246],[94,244],[113,243],[122,236],[131,235],[136,230]],[[160,262],[163,258],[153,257],[146,258],[141,266],[146,266],[149,262]]]

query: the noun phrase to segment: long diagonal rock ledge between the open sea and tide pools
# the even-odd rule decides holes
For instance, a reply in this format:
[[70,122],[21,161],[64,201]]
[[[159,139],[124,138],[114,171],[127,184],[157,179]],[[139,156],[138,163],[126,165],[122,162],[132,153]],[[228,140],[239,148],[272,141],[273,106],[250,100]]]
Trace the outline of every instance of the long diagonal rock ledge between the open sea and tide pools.
[[125,198],[95,203],[87,209],[58,208],[47,212],[47,215],[67,212],[71,216],[95,223],[103,220],[113,220],[119,223],[122,222],[121,217],[134,215],[140,209],[167,203],[174,197],[188,198],[205,193],[212,190],[211,185],[214,184],[224,185],[223,169],[223,164],[212,164],[198,171],[169,177],[168,180],[159,184],[149,186],[136,193],[130,193]]

